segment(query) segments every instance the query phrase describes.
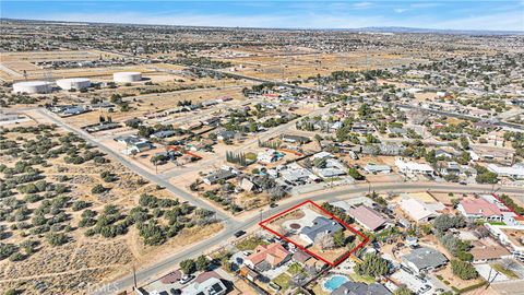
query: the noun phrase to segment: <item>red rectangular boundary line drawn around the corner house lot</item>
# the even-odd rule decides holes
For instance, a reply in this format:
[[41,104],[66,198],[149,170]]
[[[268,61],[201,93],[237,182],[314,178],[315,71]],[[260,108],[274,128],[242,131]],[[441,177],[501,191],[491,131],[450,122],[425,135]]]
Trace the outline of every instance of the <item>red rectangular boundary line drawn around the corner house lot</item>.
[[[311,204],[315,208],[318,208],[320,211],[322,211],[323,213],[325,213],[326,215],[329,215],[330,217],[332,217],[333,220],[337,221],[340,224],[342,224],[344,227],[346,227],[347,229],[352,231],[354,234],[360,236],[361,238],[364,238],[364,240],[358,244],[355,248],[350,249],[349,251],[345,252],[341,258],[338,258],[337,260],[335,261],[329,261],[327,259],[321,257],[320,255],[313,252],[313,251],[310,251],[308,249],[306,249],[306,247],[301,246],[301,245],[298,245],[296,241],[285,237],[284,235],[282,234],[278,234],[276,231],[273,231],[271,229],[270,227],[267,227],[265,224],[299,208],[299,206],[302,206],[305,204]],[[277,236],[278,238],[282,238],[284,240],[286,240],[287,243],[290,243],[293,245],[295,245],[297,248],[299,248],[300,250],[307,252],[308,255],[319,259],[319,260],[322,260],[323,262],[327,263],[329,266],[331,267],[336,267],[338,266],[340,263],[342,263],[344,260],[346,260],[352,253],[354,253],[358,248],[361,248],[364,247],[364,245],[366,245],[367,243],[369,243],[369,238],[364,235],[362,233],[358,232],[357,229],[355,229],[353,226],[348,225],[347,223],[343,222],[341,219],[338,219],[337,216],[333,215],[333,213],[329,212],[327,210],[323,209],[322,206],[318,205],[315,202],[311,201],[311,200],[306,200],[297,205],[294,205],[278,214],[275,214],[266,220],[263,220],[259,223],[259,225],[264,228],[265,231],[272,233],[273,235]]]

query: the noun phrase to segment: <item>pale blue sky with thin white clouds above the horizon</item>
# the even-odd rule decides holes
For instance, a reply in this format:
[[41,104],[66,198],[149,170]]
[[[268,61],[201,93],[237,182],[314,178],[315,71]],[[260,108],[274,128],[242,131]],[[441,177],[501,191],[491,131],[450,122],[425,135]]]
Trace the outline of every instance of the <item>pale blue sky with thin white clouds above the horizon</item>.
[[70,22],[277,27],[524,31],[524,0],[499,1],[25,1],[0,16]]

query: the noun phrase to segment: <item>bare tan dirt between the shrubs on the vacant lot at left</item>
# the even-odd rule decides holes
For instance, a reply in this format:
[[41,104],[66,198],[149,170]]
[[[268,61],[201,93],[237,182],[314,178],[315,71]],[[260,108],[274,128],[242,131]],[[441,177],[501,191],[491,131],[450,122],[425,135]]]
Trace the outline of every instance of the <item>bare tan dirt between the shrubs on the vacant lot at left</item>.
[[[36,127],[36,123],[24,123],[23,126]],[[4,140],[22,144],[27,140],[37,139],[36,134],[38,133],[13,131],[4,133],[3,137]],[[57,140],[66,134],[64,131],[55,129],[47,137]],[[95,152],[95,150],[91,151]],[[20,162],[20,158],[10,154],[0,155],[0,160],[8,168],[15,167],[15,163]],[[49,193],[41,191],[23,193],[20,189],[12,190],[16,192],[10,198],[19,200],[19,205],[25,204],[26,206],[23,211],[21,210],[24,205],[20,206],[22,209],[19,208],[14,213],[24,212],[23,214],[26,214],[27,217],[2,220],[0,222],[3,233],[2,243],[22,245],[24,241],[32,240],[35,246],[32,252],[24,255],[24,258],[20,261],[12,257],[0,260],[0,290],[16,287],[27,294],[84,294],[86,285],[110,281],[119,275],[127,274],[133,263],[140,266],[152,263],[160,257],[172,255],[177,249],[221,232],[222,224],[206,226],[195,224],[191,227],[181,228],[172,238],[167,239],[159,246],[145,245],[135,226],[129,227],[127,233],[115,237],[87,235],[86,232],[90,227],[79,225],[83,220],[85,210],[75,210],[74,205],[71,204],[80,201],[85,202],[88,204],[88,210],[97,212],[97,216],[106,211],[108,204],[111,204],[122,212],[123,217],[139,204],[139,199],[143,193],[158,199],[177,199],[177,196],[148,184],[118,162],[109,157],[107,160],[109,162],[106,163],[86,161],[82,164],[73,164],[66,162],[64,156],[59,155],[48,158],[46,165],[34,165],[47,184],[52,184],[53,187],[64,186],[68,188],[57,197],[49,194],[50,191]],[[115,180],[106,181],[103,179],[102,173],[109,173],[115,177]],[[5,174],[0,176],[2,179],[7,177]],[[106,188],[106,191],[94,193],[93,187],[97,185],[102,185]],[[53,224],[50,231],[64,233],[68,241],[61,246],[51,246],[49,234],[34,232],[37,228],[45,231],[43,226],[35,225],[37,223],[35,216],[40,214],[35,212],[45,210],[44,203],[49,200],[51,201],[50,204],[55,205],[61,196],[70,201],[53,210],[58,210],[56,214],[64,216],[64,221]],[[2,210],[5,209],[5,204],[2,204]],[[43,216],[51,221],[58,216],[55,215],[53,217],[52,214],[55,214],[53,211],[44,213]],[[165,224],[165,221],[158,221],[159,224]],[[24,223],[26,225],[23,225]],[[66,227],[61,227],[62,225]]]

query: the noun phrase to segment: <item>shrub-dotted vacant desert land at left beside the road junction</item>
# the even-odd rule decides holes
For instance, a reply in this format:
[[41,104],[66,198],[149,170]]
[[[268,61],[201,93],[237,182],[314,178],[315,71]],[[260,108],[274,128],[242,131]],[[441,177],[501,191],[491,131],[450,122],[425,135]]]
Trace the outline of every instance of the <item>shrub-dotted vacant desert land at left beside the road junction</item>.
[[222,228],[53,126],[0,137],[0,290],[85,292]]

